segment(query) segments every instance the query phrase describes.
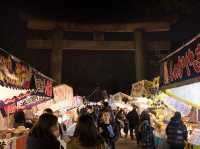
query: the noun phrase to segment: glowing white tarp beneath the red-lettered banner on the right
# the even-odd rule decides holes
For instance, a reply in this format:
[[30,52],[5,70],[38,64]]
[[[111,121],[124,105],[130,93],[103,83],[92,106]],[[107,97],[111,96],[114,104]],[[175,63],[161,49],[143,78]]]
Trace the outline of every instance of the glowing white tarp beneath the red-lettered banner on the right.
[[167,89],[166,92],[177,96],[187,104],[200,108],[200,82]]

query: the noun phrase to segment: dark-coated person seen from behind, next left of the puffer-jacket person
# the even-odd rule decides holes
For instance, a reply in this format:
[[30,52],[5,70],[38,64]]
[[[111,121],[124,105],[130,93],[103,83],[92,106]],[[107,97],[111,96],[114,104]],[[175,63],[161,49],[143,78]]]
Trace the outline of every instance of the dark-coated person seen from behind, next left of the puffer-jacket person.
[[140,118],[140,125],[138,127],[138,131],[141,135],[140,142],[142,148],[155,149],[153,130],[154,128],[151,126],[149,113],[146,111],[142,112]]

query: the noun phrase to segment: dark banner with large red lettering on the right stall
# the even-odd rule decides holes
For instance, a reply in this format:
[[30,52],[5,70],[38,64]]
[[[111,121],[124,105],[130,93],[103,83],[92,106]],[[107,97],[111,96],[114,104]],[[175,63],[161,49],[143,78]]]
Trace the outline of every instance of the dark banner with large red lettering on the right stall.
[[161,64],[162,85],[200,76],[200,34]]

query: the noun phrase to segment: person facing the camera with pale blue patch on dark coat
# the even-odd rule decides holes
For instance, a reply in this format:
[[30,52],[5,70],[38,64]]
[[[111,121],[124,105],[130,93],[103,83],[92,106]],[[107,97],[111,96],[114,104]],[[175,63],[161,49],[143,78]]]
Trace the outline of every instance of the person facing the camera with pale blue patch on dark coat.
[[119,138],[119,124],[111,120],[109,111],[104,111],[101,117],[102,121],[99,124],[99,132],[109,146],[109,149],[115,149],[115,142]]

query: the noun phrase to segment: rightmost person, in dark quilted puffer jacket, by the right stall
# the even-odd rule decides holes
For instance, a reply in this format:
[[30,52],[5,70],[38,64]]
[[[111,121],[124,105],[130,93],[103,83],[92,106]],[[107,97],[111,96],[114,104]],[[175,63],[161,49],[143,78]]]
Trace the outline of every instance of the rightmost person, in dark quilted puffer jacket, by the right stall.
[[176,112],[171,118],[166,129],[167,141],[170,149],[184,149],[184,142],[187,140],[187,128],[181,121],[181,113]]

